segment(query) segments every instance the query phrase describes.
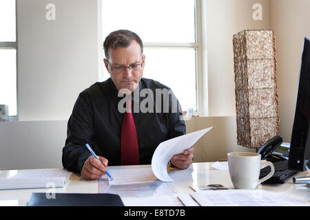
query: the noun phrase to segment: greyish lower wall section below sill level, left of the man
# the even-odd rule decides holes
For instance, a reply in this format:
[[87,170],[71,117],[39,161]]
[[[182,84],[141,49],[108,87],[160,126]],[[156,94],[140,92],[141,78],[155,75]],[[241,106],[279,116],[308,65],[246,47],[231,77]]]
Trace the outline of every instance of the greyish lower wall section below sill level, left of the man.
[[1,122],[0,169],[62,168],[66,120]]

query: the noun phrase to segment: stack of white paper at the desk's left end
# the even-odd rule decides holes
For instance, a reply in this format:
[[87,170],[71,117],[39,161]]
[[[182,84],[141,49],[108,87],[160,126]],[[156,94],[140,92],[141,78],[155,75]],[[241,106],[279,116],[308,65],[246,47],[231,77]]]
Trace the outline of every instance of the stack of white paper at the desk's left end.
[[16,170],[8,177],[0,175],[0,189],[64,187],[71,175],[72,172],[61,169]]

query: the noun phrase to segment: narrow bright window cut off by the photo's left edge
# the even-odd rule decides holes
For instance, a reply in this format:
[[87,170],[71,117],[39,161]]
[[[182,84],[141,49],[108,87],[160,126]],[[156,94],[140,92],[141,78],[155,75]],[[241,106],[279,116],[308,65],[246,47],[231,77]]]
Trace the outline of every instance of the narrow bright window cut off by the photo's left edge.
[[15,1],[0,1],[0,104],[17,115],[17,37]]

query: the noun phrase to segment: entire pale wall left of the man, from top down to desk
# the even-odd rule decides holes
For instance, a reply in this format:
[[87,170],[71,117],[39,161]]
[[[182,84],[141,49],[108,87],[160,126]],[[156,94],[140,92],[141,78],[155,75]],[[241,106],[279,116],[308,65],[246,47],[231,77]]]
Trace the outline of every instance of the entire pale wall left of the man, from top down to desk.
[[[45,6],[56,5],[48,21]],[[19,122],[0,123],[0,169],[59,168],[79,93],[102,72],[97,0],[17,0]]]

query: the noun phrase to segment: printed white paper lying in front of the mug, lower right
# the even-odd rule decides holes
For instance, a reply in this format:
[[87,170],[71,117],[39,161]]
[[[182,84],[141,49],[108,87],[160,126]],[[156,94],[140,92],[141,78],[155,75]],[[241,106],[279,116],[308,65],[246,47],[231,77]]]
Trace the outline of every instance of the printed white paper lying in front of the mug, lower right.
[[286,192],[266,190],[206,190],[190,195],[200,206],[310,206]]

